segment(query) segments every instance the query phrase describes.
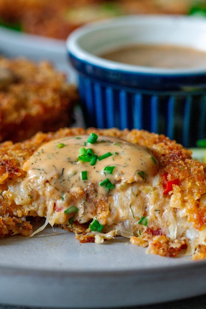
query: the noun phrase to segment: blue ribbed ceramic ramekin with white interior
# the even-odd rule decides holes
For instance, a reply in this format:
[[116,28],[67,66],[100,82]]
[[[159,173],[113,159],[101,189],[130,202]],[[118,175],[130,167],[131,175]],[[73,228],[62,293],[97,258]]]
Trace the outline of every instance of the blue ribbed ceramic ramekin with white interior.
[[184,146],[206,137],[206,63],[195,69],[132,66],[98,57],[131,44],[206,51],[206,19],[130,16],[93,23],[67,40],[87,126],[163,133]]

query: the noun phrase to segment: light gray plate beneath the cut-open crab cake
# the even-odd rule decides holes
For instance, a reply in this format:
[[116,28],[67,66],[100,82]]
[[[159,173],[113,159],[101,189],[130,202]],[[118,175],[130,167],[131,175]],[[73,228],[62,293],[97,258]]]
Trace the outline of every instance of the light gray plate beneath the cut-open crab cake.
[[1,303],[63,308],[118,307],[204,294],[206,261],[146,255],[122,237],[80,244],[48,227],[0,240]]

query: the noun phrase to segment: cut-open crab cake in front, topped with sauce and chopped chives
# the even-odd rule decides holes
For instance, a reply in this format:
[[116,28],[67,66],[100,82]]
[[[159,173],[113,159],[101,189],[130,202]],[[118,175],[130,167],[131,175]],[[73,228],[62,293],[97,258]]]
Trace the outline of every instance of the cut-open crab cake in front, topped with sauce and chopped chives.
[[[81,243],[121,235],[147,253],[203,259],[205,172],[190,150],[137,129],[60,129],[4,142],[0,236],[33,236],[56,224]],[[28,216],[45,223],[33,231]]]

